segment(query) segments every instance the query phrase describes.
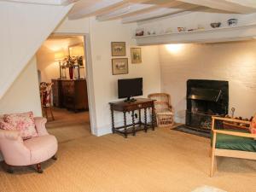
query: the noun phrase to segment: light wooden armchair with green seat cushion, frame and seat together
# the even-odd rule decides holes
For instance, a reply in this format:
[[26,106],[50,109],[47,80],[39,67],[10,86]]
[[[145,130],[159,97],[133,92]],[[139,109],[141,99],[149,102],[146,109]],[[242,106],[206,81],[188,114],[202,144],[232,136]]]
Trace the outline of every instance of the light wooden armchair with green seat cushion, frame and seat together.
[[246,125],[251,124],[250,121],[240,119],[212,117],[211,177],[213,176],[216,156],[256,160],[256,134],[252,134],[247,130],[216,130],[215,120],[230,121]]

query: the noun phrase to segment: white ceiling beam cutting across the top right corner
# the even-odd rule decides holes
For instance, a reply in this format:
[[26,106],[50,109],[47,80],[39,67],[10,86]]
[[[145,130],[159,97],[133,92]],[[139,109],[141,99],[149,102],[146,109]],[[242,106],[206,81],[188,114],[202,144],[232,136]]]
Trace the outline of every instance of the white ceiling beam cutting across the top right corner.
[[[256,12],[255,8],[252,8],[252,1],[249,0],[177,0],[183,3],[192,3],[212,9],[225,10],[235,12],[238,14],[250,14]],[[243,1],[247,3],[242,3]],[[255,2],[255,1],[254,1]]]

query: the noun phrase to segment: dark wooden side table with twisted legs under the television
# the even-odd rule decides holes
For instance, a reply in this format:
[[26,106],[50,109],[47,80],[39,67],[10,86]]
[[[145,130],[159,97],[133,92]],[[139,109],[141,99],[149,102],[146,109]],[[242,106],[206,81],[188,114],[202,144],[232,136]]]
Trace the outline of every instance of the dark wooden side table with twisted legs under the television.
[[[136,102],[109,102],[112,118],[112,132],[119,133],[124,135],[127,138],[128,134],[136,136],[137,131],[148,131],[148,128],[152,128],[154,131],[154,100],[140,98]],[[152,121],[148,122],[148,109],[152,111]],[[144,113],[144,122],[142,121],[142,110]],[[122,112],[124,115],[124,125],[115,127],[114,125],[114,111]],[[136,113],[138,112],[138,114]],[[126,114],[131,112],[132,123],[127,125],[127,116]],[[138,116],[138,121],[135,122],[135,119]]]

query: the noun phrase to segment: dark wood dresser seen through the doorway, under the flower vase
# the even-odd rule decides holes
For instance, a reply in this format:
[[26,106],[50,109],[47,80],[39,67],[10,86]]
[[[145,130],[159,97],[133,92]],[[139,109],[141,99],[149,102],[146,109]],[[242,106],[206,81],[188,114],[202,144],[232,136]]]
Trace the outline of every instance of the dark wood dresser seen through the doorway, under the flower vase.
[[69,110],[88,110],[86,79],[52,79],[53,105]]

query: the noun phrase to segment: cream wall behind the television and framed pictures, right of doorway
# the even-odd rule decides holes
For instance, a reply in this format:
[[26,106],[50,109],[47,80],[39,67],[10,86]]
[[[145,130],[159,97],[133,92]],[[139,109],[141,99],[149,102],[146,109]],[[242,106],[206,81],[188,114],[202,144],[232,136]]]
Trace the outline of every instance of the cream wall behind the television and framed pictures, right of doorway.
[[[98,22],[90,20],[90,42],[93,67],[94,95],[96,103],[97,135],[111,131],[108,102],[118,100],[117,79],[143,77],[144,97],[160,91],[160,66],[157,46],[143,47],[143,63],[131,64],[131,47],[135,46],[132,33],[135,24],[122,25],[119,20]],[[125,42],[126,56],[129,58],[129,74],[112,75],[111,42]],[[122,120],[121,117],[116,119]]]

